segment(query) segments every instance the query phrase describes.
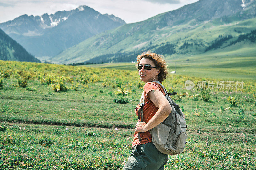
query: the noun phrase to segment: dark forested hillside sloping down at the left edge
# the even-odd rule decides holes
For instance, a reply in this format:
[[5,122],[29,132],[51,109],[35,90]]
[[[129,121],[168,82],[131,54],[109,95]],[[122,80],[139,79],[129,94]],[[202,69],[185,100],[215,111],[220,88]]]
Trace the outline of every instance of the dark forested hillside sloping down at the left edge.
[[40,62],[0,29],[0,60]]

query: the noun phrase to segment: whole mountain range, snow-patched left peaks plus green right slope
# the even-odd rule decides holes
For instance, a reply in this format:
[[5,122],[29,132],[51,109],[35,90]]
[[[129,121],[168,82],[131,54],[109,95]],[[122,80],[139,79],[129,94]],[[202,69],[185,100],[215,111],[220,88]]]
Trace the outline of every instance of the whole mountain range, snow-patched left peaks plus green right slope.
[[51,15],[23,15],[0,28],[41,60],[48,57],[58,64],[131,62],[147,50],[175,59],[254,49],[255,17],[256,0],[199,0],[131,24],[79,6]]

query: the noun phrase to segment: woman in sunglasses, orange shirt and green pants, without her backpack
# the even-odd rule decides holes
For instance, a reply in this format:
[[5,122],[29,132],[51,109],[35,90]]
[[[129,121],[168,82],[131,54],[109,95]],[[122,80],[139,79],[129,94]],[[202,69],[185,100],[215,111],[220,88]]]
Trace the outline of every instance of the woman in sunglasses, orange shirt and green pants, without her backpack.
[[[164,96],[164,89],[155,82],[163,82],[167,75],[167,66],[163,58],[150,51],[137,57],[137,69],[140,80],[145,82],[143,87],[145,105],[143,106],[143,122],[137,122],[132,141],[132,153],[125,163],[123,170],[127,169],[164,169],[168,155],[159,152],[152,143],[148,130],[163,122],[170,114],[172,107]],[[135,112],[138,115],[138,108]],[[141,132],[141,140],[138,139]]]

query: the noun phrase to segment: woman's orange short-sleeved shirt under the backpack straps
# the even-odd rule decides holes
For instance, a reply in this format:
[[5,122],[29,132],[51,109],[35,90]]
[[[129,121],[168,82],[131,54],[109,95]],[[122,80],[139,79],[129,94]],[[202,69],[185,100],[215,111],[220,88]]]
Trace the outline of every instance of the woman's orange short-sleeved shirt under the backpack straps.
[[[158,108],[154,105],[154,103],[148,98],[148,92],[151,90],[160,90],[164,94],[164,89],[155,82],[147,82],[145,83],[144,87],[144,99],[145,104],[143,106],[143,122],[148,123],[150,119],[156,114]],[[138,115],[138,108],[140,103],[135,107],[135,113]],[[138,133],[134,133],[133,141],[132,141],[132,147],[137,144],[146,144],[148,142],[152,141],[151,134],[149,131],[141,133],[141,140],[138,139]]]

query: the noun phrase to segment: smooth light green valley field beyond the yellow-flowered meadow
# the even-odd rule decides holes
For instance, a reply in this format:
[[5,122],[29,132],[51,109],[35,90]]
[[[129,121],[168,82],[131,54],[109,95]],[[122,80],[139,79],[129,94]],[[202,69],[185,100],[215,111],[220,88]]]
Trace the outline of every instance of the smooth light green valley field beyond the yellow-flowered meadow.
[[[213,78],[223,80],[255,80],[256,79],[256,53],[254,46],[248,48],[247,54],[236,50],[232,52],[207,52],[201,55],[176,55],[167,57],[169,71],[176,74],[194,76],[199,78]],[[172,59],[174,58],[174,59]],[[186,61],[188,59],[188,61]],[[86,67],[136,70],[136,63],[104,63],[84,65]]]

